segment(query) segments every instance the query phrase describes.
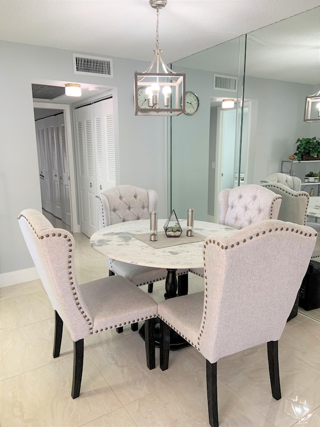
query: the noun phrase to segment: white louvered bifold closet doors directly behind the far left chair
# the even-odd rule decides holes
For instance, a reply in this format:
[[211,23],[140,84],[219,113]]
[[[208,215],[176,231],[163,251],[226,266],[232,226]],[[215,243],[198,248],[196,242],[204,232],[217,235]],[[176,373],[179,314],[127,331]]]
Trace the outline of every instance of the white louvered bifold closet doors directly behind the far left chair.
[[112,99],[75,110],[78,144],[81,229],[98,230],[95,195],[115,185]]

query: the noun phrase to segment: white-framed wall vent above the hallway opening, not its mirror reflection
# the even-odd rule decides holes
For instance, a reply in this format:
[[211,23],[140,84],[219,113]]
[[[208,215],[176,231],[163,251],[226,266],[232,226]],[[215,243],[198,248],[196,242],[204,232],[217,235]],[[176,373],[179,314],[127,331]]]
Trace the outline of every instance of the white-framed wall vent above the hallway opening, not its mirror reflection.
[[72,54],[73,73],[86,76],[113,77],[112,60],[109,58],[91,57]]

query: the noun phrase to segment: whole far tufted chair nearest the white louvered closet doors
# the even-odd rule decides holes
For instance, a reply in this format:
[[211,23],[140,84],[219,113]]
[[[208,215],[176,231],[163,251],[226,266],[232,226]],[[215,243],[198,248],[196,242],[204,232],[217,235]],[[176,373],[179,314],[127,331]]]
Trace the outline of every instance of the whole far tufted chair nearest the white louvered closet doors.
[[[125,221],[149,219],[150,212],[156,211],[158,196],[154,190],[144,190],[132,185],[118,185],[95,196],[99,212],[100,227]],[[109,275],[120,274],[136,286],[148,285],[152,292],[153,283],[166,278],[165,268],[145,267],[107,259]],[[179,285],[184,280],[187,286],[187,270],[177,270]],[[184,275],[182,277],[182,275]],[[186,279],[186,284],[185,284]],[[120,330],[119,330],[120,331]]]

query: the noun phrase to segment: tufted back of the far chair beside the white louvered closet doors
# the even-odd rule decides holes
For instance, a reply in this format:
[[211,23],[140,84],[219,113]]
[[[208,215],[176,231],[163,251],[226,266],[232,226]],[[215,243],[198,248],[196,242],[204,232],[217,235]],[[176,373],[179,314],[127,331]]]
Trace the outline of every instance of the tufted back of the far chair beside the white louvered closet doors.
[[124,221],[150,218],[156,210],[158,196],[154,190],[133,185],[118,185],[96,197],[100,228]]

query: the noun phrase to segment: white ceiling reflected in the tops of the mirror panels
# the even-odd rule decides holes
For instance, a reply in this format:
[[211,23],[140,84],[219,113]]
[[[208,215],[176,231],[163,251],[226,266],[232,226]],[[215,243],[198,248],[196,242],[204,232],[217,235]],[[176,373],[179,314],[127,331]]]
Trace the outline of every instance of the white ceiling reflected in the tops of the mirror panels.
[[[238,39],[177,61],[189,67],[237,74]],[[302,84],[320,83],[320,7],[247,35],[245,75]],[[320,89],[320,88],[319,88]]]

